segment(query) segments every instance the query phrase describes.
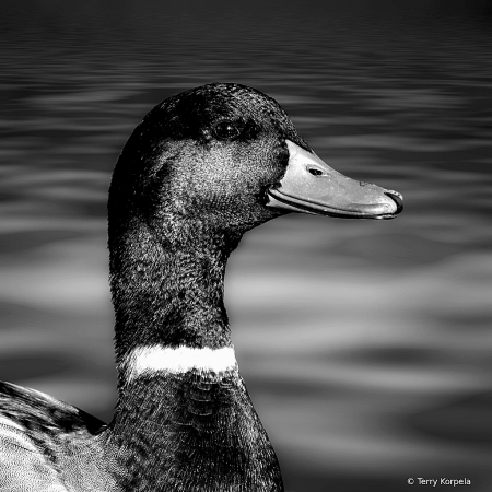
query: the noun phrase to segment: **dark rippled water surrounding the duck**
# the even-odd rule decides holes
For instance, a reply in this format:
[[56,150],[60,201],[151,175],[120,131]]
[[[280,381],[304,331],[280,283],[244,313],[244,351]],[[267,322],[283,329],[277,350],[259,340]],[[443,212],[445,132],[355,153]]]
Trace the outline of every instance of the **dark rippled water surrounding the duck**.
[[238,82],[406,200],[390,222],[273,221],[230,262],[237,358],[286,489],[488,492],[491,9],[337,4],[2,5],[0,378],[110,419],[113,165],[165,97]]

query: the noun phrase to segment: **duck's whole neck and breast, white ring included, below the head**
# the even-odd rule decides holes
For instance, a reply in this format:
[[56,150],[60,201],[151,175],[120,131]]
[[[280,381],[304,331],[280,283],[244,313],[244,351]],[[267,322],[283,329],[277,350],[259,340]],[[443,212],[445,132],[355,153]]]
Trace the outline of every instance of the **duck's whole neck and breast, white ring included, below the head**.
[[110,235],[119,399],[105,435],[121,490],[283,490],[223,303],[239,238],[199,224],[133,227],[118,244]]

